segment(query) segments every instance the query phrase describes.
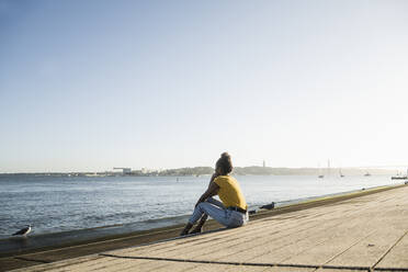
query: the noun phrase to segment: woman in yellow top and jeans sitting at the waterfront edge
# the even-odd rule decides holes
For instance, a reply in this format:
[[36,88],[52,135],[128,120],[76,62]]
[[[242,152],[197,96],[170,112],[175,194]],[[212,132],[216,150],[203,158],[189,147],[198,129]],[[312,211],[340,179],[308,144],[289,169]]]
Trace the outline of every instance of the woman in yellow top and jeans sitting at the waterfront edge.
[[[201,233],[208,215],[229,228],[247,224],[247,202],[237,180],[229,175],[231,171],[231,158],[227,152],[224,152],[215,165],[215,173],[211,178],[208,189],[195,204],[193,215],[181,231],[181,236],[188,235],[199,220],[200,223],[190,234]],[[222,202],[214,200],[212,197],[214,195],[218,195]]]

